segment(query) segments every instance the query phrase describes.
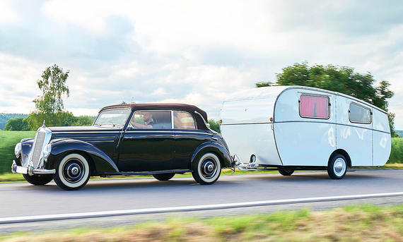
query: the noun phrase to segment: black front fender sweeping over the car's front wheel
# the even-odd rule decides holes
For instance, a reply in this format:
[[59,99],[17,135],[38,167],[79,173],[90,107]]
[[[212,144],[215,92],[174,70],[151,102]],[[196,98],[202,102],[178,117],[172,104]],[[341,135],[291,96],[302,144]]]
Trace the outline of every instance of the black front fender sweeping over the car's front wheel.
[[103,174],[105,172],[119,172],[115,162],[108,157],[105,152],[98,149],[90,143],[86,143],[82,140],[57,140],[52,142],[52,151],[47,159],[47,164],[45,165],[47,169],[57,169],[57,164],[59,164],[60,159],[64,157],[66,153],[69,152],[84,152],[92,160],[95,166],[95,174]]

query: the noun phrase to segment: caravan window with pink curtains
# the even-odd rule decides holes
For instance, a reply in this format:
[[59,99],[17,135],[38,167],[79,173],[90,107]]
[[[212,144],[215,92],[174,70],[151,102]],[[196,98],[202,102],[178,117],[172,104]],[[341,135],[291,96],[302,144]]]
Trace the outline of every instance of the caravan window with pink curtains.
[[329,119],[329,97],[300,95],[300,116],[303,118]]

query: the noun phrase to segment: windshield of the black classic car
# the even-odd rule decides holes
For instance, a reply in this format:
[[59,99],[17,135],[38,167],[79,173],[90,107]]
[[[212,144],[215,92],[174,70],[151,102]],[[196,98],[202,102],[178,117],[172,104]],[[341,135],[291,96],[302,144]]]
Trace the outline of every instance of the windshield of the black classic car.
[[110,109],[100,112],[95,119],[94,126],[112,126],[122,128],[126,123],[130,109]]

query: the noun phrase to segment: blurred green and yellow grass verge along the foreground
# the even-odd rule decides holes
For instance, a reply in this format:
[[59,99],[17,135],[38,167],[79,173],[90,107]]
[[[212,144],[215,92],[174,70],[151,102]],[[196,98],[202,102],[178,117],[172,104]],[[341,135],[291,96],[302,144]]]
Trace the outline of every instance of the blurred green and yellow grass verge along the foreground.
[[175,218],[108,229],[1,235],[0,241],[402,241],[403,205],[354,205],[322,212]]

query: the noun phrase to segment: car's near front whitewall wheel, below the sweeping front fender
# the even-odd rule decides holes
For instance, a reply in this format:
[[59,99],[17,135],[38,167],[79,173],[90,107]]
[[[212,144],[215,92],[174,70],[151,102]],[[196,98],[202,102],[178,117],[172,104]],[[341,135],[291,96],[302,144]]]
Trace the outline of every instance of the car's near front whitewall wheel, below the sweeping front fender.
[[54,182],[64,190],[78,190],[90,179],[90,164],[80,154],[71,153],[59,162]]

